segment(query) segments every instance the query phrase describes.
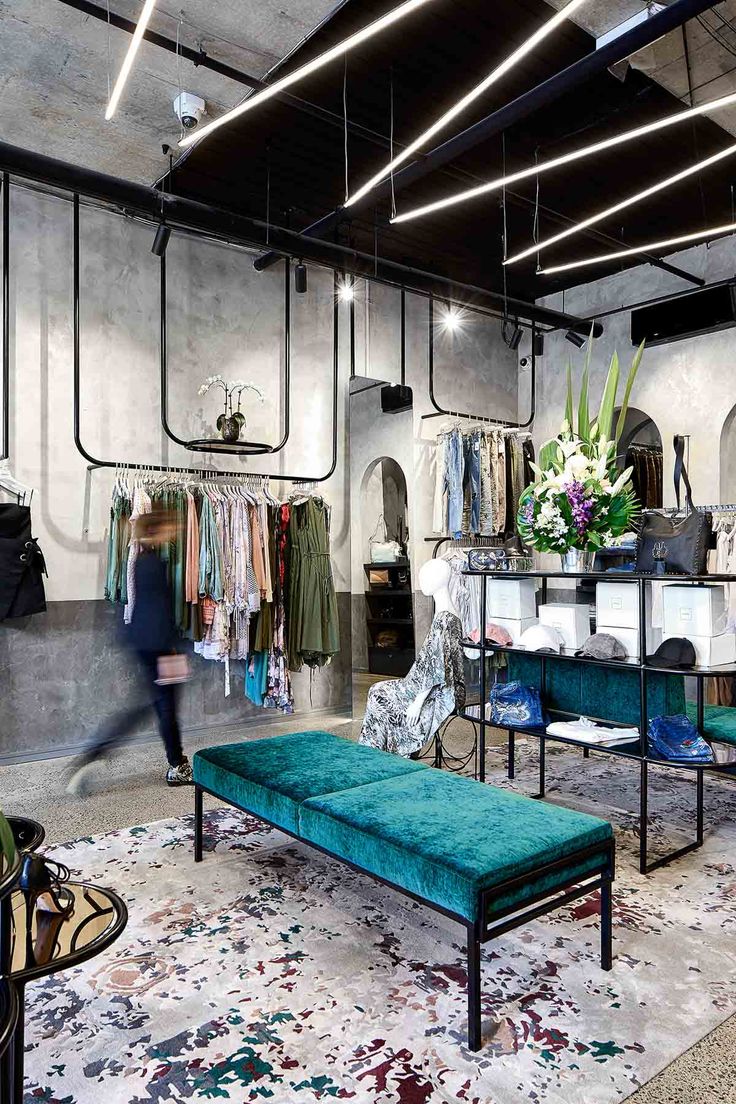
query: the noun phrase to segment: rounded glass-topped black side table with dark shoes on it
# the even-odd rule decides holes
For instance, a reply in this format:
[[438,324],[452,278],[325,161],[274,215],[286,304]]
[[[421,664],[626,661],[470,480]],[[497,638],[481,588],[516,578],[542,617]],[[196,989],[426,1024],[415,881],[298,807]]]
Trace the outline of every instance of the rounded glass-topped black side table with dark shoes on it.
[[78,966],[115,943],[128,922],[125,902],[113,890],[84,882],[67,882],[73,895],[68,915],[33,909],[31,915],[20,892],[11,896],[9,980],[17,990],[19,1013],[13,1042],[4,1062],[0,1097],[8,1104],[23,1102],[25,986],[29,981]]

